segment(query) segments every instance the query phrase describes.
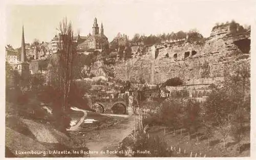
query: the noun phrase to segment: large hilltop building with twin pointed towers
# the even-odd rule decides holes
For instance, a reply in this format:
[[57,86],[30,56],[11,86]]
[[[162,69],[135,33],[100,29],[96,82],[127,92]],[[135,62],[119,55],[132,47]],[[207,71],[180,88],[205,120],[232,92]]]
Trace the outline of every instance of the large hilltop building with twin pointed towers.
[[99,32],[99,27],[97,24],[97,18],[94,18],[93,24],[93,33],[89,34],[89,36],[78,44],[78,50],[86,50],[86,49],[104,49],[108,47],[109,41],[108,38],[104,35],[103,25],[101,23],[101,28]]

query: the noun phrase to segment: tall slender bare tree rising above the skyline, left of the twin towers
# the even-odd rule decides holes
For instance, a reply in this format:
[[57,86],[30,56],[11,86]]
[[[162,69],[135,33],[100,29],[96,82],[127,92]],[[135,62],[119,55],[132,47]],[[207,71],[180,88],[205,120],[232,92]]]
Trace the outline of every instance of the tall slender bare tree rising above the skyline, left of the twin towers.
[[59,54],[60,60],[60,89],[63,93],[63,108],[65,112],[68,107],[68,98],[70,94],[70,84],[72,80],[73,62],[76,55],[76,46],[73,44],[73,27],[71,21],[67,21],[67,17],[59,22],[58,30],[61,35],[61,49]]

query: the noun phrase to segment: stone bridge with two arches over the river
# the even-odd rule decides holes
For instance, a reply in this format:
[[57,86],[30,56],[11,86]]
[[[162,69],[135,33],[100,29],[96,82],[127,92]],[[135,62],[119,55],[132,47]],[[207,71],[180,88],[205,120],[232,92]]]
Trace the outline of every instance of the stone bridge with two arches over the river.
[[113,111],[116,107],[122,107],[123,114],[128,114],[131,110],[128,98],[91,98],[91,101],[92,108],[100,113],[115,113]]

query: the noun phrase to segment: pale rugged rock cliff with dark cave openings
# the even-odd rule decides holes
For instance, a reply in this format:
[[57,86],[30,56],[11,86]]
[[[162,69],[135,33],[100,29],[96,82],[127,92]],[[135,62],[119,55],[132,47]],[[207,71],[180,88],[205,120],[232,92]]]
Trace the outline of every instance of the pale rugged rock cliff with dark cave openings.
[[154,45],[144,49],[142,55],[137,50],[132,48],[133,58],[116,63],[115,78],[135,81],[142,78],[152,84],[174,77],[187,85],[217,83],[230,63],[250,60],[250,31],[230,34],[229,25],[223,25],[199,41]]

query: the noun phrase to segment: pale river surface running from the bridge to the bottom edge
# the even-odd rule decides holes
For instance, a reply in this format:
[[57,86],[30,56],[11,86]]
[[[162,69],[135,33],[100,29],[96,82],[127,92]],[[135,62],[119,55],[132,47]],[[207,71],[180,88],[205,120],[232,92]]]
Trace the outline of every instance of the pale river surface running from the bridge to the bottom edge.
[[[134,130],[134,118],[133,116],[125,118],[126,121],[120,123],[117,128],[104,129],[95,131],[98,134],[97,139],[90,140],[86,143],[86,146],[90,151],[97,151],[98,154],[90,154],[90,157],[116,157],[113,154],[100,154],[100,151],[114,151],[116,146],[127,136],[132,130]],[[136,122],[137,122],[136,118]],[[136,123],[137,125],[137,123]],[[93,131],[94,132],[94,131]]]

